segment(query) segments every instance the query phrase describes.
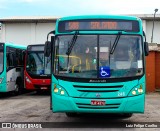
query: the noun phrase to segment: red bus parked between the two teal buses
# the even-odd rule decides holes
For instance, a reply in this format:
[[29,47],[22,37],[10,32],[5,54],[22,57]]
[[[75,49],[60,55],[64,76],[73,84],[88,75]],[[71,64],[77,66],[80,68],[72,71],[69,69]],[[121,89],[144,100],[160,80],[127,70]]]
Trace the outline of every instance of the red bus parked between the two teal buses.
[[44,44],[28,45],[25,56],[24,82],[27,90],[49,90],[50,57],[44,56]]

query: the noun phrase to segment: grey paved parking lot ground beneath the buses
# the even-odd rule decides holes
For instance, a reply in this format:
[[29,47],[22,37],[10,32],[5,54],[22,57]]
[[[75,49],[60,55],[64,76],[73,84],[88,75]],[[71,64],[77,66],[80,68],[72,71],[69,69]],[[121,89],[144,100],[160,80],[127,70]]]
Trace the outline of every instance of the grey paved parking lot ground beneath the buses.
[[[145,113],[133,114],[131,118],[121,118],[114,114],[86,114],[68,118],[65,113],[52,113],[49,93],[1,95],[0,107],[0,122],[61,122],[62,124],[65,122],[160,122],[160,93],[147,94]],[[81,126],[83,127],[83,124]]]

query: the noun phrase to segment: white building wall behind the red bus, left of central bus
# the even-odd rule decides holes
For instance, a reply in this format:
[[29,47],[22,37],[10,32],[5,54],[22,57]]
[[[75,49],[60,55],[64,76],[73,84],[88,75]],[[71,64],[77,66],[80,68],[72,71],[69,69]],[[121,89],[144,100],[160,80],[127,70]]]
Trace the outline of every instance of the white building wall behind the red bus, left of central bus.
[[0,19],[0,42],[43,44],[55,28],[57,17],[9,17]]

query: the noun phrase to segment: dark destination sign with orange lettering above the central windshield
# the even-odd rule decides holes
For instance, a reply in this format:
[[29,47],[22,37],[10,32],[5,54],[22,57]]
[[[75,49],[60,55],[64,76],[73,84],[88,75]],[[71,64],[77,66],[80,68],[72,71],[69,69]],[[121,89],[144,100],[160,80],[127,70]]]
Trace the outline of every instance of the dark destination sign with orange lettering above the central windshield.
[[59,22],[59,32],[90,30],[121,30],[138,32],[138,21],[124,20],[77,20]]

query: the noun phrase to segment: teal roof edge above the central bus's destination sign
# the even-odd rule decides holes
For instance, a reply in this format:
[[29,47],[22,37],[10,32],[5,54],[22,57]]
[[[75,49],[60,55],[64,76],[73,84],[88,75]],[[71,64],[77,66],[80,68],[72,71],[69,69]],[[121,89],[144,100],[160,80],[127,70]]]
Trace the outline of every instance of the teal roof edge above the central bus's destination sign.
[[59,21],[64,20],[75,20],[75,19],[123,19],[123,20],[140,20],[136,16],[124,16],[124,15],[82,15],[82,16],[69,16],[58,19]]

